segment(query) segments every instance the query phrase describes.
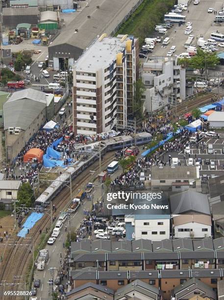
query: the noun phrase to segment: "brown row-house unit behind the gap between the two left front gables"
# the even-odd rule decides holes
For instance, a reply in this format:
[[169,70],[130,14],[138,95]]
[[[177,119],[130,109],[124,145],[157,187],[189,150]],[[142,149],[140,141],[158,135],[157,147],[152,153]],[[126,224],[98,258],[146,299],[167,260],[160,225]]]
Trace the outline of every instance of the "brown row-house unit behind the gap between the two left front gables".
[[127,271],[100,271],[99,284],[106,285],[108,288],[117,291],[121,286],[127,285]]

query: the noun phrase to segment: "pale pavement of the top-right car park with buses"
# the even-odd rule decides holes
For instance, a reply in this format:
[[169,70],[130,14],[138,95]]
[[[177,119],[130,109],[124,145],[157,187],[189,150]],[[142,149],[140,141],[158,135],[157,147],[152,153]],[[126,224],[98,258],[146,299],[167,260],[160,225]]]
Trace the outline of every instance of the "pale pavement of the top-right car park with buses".
[[[209,7],[213,7],[217,12],[222,9],[224,1],[219,0],[200,0],[198,5],[194,5],[193,1],[189,4],[188,10],[182,12],[182,15],[186,16],[186,22],[192,22],[193,32],[191,34],[195,35],[192,46],[197,46],[197,36],[202,35],[205,40],[210,38],[211,32],[216,32],[217,30],[221,33],[224,33],[224,23],[221,23],[221,26],[214,25],[213,21],[215,20],[214,13],[208,13],[207,10]],[[170,38],[170,44],[168,46],[162,47],[161,43],[157,43],[152,54],[150,56],[166,56],[167,52],[171,46],[176,46],[176,55],[179,55],[182,52],[186,52],[184,48],[184,43],[188,39],[188,35],[184,34],[186,25],[174,24],[171,29],[168,29],[167,36]],[[162,36],[166,37],[166,36]],[[223,48],[219,48],[220,51]],[[144,61],[144,60],[143,60]]]

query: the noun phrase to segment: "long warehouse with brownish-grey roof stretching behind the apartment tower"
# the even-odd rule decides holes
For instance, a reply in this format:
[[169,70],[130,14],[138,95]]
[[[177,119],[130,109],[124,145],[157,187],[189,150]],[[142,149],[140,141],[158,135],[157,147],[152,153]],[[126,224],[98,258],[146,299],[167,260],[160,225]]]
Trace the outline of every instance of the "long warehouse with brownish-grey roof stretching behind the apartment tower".
[[73,66],[75,60],[89,47],[98,35],[110,35],[141,4],[143,0],[94,0],[88,3],[49,46],[49,66],[59,70],[64,60]]

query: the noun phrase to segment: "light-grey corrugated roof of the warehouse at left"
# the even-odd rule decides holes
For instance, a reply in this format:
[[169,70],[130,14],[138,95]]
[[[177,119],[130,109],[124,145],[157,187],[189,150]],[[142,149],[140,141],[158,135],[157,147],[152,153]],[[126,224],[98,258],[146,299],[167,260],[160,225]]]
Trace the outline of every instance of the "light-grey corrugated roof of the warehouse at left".
[[45,93],[33,89],[15,92],[4,103],[4,129],[21,127],[26,130],[46,108]]

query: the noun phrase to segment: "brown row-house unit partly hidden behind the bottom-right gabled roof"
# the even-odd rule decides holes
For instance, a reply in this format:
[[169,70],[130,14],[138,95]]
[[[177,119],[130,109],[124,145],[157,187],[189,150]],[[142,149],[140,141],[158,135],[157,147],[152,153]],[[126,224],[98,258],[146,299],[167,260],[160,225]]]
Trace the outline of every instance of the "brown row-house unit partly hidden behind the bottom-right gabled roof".
[[201,282],[207,284],[213,289],[216,289],[217,282],[221,280],[222,277],[222,270],[221,269],[191,270],[191,276],[193,278],[198,278]]

